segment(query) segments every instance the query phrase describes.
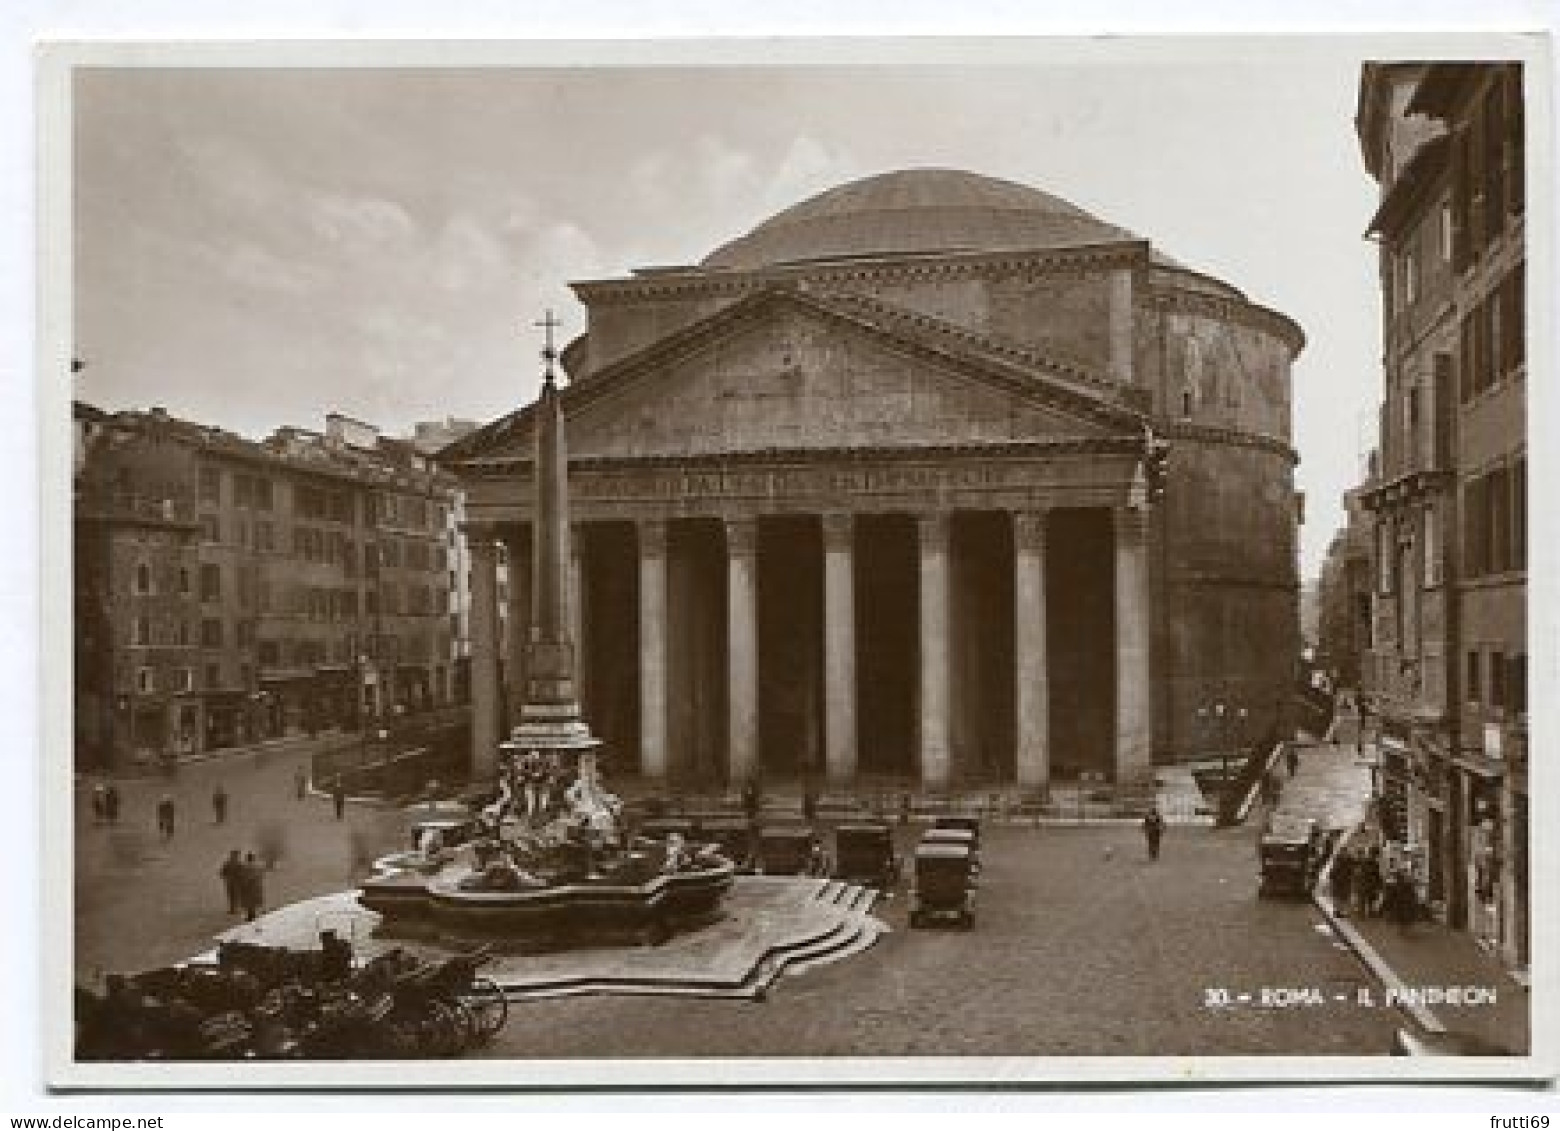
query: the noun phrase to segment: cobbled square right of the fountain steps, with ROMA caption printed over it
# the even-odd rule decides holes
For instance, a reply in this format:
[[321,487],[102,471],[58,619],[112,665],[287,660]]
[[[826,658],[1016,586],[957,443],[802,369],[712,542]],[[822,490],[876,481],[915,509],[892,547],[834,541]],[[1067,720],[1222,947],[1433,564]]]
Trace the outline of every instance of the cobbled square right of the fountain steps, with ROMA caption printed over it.
[[[991,827],[973,931],[906,925],[768,1002],[568,998],[510,1012],[498,1058],[1376,1055],[1401,1023],[1304,902],[1259,900],[1246,828]],[[1262,989],[1320,1005],[1262,1008]],[[1231,1005],[1209,1008],[1228,991]],[[1253,1002],[1240,1003],[1242,994]],[[1343,995],[1346,1002],[1337,1002]],[[1276,997],[1276,995],[1275,995]]]

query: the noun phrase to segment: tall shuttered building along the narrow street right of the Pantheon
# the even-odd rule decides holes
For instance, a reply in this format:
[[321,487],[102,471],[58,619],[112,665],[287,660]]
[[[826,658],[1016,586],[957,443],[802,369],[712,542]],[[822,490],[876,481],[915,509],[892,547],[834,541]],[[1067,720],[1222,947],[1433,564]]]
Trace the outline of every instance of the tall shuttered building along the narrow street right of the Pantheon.
[[1384,788],[1455,927],[1527,963],[1519,64],[1367,66],[1385,396],[1365,688]]

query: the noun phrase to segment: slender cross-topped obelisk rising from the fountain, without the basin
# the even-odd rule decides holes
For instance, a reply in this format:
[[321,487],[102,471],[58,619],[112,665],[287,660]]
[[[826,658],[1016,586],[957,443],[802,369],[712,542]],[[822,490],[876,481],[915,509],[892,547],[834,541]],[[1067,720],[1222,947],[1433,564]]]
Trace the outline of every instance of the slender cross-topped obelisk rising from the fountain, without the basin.
[[548,343],[541,351],[546,368],[541,396],[532,412],[532,538],[530,538],[530,632],[526,638],[526,693],[519,725],[501,749],[513,753],[583,753],[601,746],[580,716],[574,683],[574,647],[569,638],[569,482],[568,446],[563,437],[563,398],[552,365],[552,328],[548,310]]

